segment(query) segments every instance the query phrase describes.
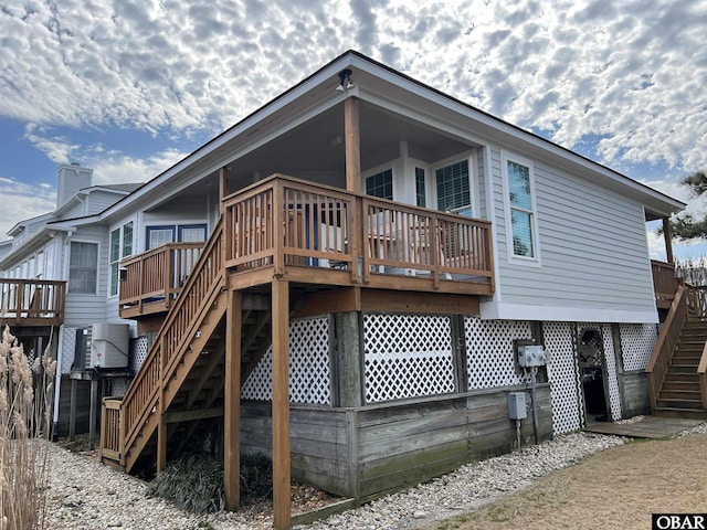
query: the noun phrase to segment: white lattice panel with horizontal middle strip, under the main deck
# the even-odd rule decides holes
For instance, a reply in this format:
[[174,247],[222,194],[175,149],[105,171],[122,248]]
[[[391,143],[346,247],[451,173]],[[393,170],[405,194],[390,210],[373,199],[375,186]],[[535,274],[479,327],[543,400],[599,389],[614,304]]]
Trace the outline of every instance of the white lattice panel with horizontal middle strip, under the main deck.
[[365,315],[366,402],[454,392],[449,317]]

